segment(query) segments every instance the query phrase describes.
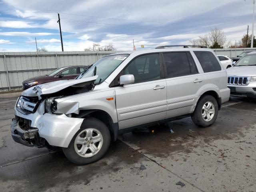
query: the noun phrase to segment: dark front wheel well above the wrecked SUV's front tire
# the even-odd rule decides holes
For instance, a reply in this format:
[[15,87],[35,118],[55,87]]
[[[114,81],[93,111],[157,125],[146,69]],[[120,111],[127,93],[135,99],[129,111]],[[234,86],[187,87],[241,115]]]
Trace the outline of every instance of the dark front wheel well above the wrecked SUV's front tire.
[[[118,123],[114,124],[110,115],[103,110],[81,110],[78,118],[93,117],[101,120],[109,129],[111,140],[115,141],[118,134]],[[116,127],[117,126],[117,127]],[[117,130],[116,130],[117,129]]]

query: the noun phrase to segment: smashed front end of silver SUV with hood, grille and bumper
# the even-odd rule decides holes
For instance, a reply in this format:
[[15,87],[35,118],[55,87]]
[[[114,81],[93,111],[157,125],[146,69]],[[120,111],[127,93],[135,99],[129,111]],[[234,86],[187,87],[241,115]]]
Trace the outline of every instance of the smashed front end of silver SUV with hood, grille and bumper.
[[[94,89],[97,76],[79,80],[63,80],[42,84],[22,92],[15,105],[15,118],[11,132],[14,141],[25,146],[67,147],[82,119],[70,118],[60,112],[56,99],[89,92]],[[65,106],[67,110],[79,108],[79,104]]]

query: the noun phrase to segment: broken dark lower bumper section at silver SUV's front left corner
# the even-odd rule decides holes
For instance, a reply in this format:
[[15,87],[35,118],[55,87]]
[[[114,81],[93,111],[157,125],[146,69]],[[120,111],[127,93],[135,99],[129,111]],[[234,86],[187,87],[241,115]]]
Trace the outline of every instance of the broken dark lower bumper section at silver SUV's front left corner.
[[32,128],[28,124],[28,120],[17,116],[12,119],[11,132],[13,140],[29,147],[47,147],[45,139],[38,134],[38,128]]

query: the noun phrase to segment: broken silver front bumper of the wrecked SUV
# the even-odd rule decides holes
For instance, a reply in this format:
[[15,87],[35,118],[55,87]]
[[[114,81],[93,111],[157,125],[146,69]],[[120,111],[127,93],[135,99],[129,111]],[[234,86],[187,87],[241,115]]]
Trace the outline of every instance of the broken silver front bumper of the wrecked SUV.
[[30,136],[30,132],[20,128],[18,124],[20,118],[30,121],[30,130],[37,131],[36,138],[45,140],[50,146],[58,147],[68,147],[83,122],[81,118],[70,118],[65,114],[44,113],[44,102],[38,106],[34,113],[22,114],[16,108],[14,110],[16,118],[11,125],[12,137],[14,141],[26,146],[32,144],[32,146],[42,147],[42,143],[40,143],[41,146],[38,146],[31,140],[32,138],[24,138],[24,134]]

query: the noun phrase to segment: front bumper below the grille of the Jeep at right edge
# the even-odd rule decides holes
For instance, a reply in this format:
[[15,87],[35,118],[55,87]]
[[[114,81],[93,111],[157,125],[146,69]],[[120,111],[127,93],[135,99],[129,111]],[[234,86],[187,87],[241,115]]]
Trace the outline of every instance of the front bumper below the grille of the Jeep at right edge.
[[228,85],[230,96],[256,98],[256,82],[248,85]]

